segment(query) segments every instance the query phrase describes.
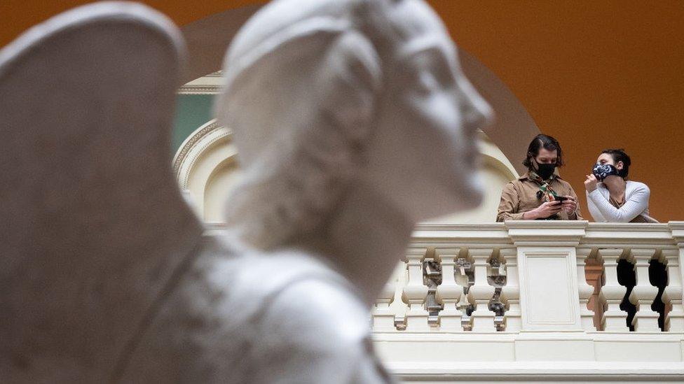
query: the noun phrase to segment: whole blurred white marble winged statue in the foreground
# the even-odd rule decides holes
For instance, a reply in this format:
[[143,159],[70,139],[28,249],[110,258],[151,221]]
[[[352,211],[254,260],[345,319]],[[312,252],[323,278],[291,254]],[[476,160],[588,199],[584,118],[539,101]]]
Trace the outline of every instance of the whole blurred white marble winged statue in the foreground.
[[369,306],[416,222],[479,204],[491,111],[422,0],[277,0],[235,37],[244,171],[202,236],[170,171],[184,46],[132,3],[0,51],[6,382],[385,383]]

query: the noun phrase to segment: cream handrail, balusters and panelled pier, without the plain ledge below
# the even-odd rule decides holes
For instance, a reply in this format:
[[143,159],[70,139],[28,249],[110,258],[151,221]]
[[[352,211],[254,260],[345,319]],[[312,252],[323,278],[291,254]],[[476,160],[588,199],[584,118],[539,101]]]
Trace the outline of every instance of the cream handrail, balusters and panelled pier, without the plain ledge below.
[[[632,228],[634,236],[629,234]],[[404,273],[402,276],[395,273],[395,280],[391,284],[397,292],[391,294],[388,285],[374,309],[377,317],[374,324],[378,331],[392,329],[401,332],[405,325],[406,330],[413,332],[490,333],[495,332],[498,325],[500,331],[517,333],[526,329],[524,313],[527,311],[528,322],[535,320],[531,316],[537,316],[530,328],[537,332],[554,329],[589,333],[629,332],[628,313],[620,308],[624,304],[627,287],[620,284],[617,276],[618,262],[626,259],[634,263],[636,277],[636,285],[630,296],[637,306],[632,324],[640,333],[660,332],[660,314],[651,309],[658,288],[651,285],[648,279],[650,260],[659,258],[660,262],[666,264],[668,275],[668,284],[662,296],[667,308],[664,330],[684,332],[683,271],[680,268],[680,259],[684,255],[684,222],[671,222],[669,225],[586,222],[421,225],[416,235],[420,246],[409,248]],[[558,239],[557,242],[554,237]],[[434,241],[430,243],[423,239]],[[501,263],[499,269],[493,269],[490,265],[493,255]],[[603,286],[598,290],[594,311],[587,307],[594,293],[585,273],[589,257],[593,260],[592,264],[602,263],[605,269]],[[525,273],[519,270],[521,258],[527,263]],[[551,264],[545,267],[545,262]],[[435,263],[438,265],[435,266]],[[566,265],[571,266],[571,269]],[[471,273],[474,273],[470,287],[466,269],[472,269]],[[440,276],[437,276],[437,270]],[[497,271],[505,273],[505,278],[497,278]],[[536,276],[540,273],[545,273],[545,276]],[[567,276],[549,273],[567,273]],[[399,281],[399,277],[405,280]],[[570,277],[572,279],[568,279]],[[438,285],[435,284],[437,278]],[[499,282],[496,289],[491,283],[493,281]],[[601,282],[598,284],[601,285]],[[535,306],[533,311],[525,308],[521,301],[523,286],[528,299],[535,301],[532,304]],[[535,292],[543,287],[547,287],[546,292]],[[494,297],[495,290],[497,294]],[[570,292],[567,297],[566,291]],[[575,292],[574,299],[572,292]],[[559,293],[561,296],[557,296]],[[399,297],[402,300],[397,300]],[[491,305],[497,302],[497,298],[505,306],[503,324],[500,318],[495,321],[495,313],[491,311]],[[549,299],[540,301],[540,298]],[[556,302],[557,299],[560,301]],[[474,309],[469,311],[468,306]],[[499,308],[497,311],[500,313]],[[469,312],[472,313],[469,315]],[[570,317],[559,322],[555,320],[554,313],[566,313],[566,317]],[[573,313],[577,315],[576,322],[572,318]],[[594,317],[601,318],[598,329]],[[559,327],[559,323],[565,325]],[[527,326],[530,327],[529,324]]]

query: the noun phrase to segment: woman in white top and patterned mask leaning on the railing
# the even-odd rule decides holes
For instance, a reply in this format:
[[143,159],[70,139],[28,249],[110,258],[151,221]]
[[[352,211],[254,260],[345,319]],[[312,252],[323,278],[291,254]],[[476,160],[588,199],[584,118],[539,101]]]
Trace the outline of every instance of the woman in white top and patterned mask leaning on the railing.
[[603,150],[584,187],[589,213],[596,222],[657,222],[648,214],[650,190],[627,180],[631,159],[622,149]]

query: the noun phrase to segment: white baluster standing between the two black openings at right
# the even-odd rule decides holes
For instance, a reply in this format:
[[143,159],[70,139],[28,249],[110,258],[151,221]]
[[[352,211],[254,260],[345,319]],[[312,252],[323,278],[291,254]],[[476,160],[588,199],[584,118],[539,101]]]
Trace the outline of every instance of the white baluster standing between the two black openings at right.
[[655,257],[655,249],[633,249],[630,252],[636,269],[636,285],[629,294],[629,301],[636,305],[634,330],[636,332],[659,332],[659,313],[651,309],[651,304],[658,294],[658,288],[651,285],[648,278],[650,260]]

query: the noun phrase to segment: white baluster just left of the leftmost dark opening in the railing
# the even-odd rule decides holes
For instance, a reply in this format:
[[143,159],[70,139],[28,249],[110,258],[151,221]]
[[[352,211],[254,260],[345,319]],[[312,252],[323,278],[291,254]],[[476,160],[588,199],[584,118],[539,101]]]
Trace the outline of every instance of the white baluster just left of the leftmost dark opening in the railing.
[[427,331],[427,310],[425,300],[427,299],[427,286],[423,283],[423,260],[425,259],[425,248],[411,249],[406,255],[407,282],[404,287],[404,297],[409,304],[406,312],[407,331]]

